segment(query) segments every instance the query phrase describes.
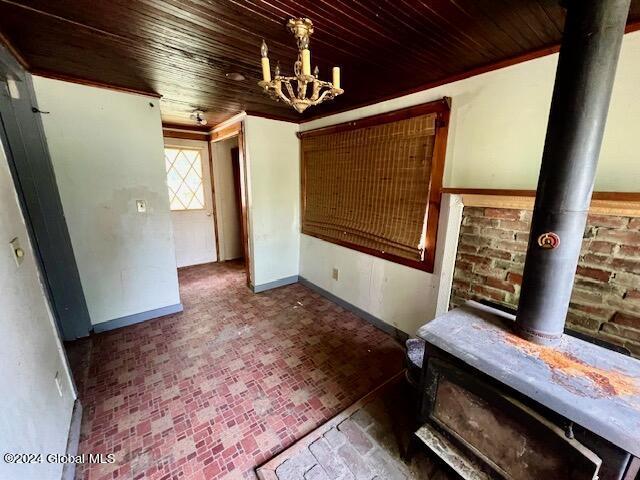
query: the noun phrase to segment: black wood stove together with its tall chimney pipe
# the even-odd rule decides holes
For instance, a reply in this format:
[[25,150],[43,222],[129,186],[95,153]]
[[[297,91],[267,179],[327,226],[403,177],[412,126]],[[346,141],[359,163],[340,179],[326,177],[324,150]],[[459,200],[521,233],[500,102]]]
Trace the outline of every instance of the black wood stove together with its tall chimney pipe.
[[629,0],[567,0],[516,316],[423,326],[417,436],[467,480],[635,480],[640,361],[563,334]]

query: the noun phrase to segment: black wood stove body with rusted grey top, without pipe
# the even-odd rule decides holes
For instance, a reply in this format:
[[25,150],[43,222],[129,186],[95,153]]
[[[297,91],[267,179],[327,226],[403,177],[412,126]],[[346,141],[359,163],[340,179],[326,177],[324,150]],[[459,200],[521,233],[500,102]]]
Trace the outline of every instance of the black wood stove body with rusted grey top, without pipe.
[[469,480],[636,479],[640,361],[568,335],[530,343],[513,323],[469,302],[419,330],[417,436]]

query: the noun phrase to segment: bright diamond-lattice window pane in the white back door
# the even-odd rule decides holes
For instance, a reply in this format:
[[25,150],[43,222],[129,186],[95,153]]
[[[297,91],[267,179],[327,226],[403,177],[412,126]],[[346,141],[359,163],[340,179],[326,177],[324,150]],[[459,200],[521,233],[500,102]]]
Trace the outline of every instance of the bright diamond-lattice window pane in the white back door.
[[204,208],[200,150],[165,148],[164,161],[167,167],[171,210]]

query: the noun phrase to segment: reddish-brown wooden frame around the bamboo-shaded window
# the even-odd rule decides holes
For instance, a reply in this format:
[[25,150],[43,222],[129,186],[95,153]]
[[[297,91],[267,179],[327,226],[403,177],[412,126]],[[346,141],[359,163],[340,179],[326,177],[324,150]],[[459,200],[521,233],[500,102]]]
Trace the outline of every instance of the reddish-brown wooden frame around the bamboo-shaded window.
[[364,117],[358,120],[339,123],[329,127],[318,128],[315,130],[308,130],[306,132],[299,132],[298,138],[302,141],[304,138],[309,138],[318,135],[327,135],[339,132],[345,132],[350,130],[356,130],[360,128],[373,127],[382,125],[384,123],[397,122],[400,120],[406,120],[412,117],[436,114],[436,133],[433,146],[433,157],[431,159],[431,172],[429,175],[429,196],[427,199],[427,205],[425,208],[426,216],[426,235],[425,235],[425,254],[423,260],[411,260],[408,258],[400,257],[398,255],[390,254],[387,252],[379,251],[376,249],[364,247],[352,242],[342,241],[335,238],[325,237],[315,233],[305,232],[304,219],[306,210],[306,168],[304,159],[304,150],[300,148],[300,231],[304,235],[310,237],[319,238],[335,245],[340,245],[351,250],[366,253],[374,257],[383,258],[390,262],[405,265],[407,267],[416,268],[428,273],[433,273],[435,266],[436,256],[436,240],[438,236],[438,222],[440,219],[440,203],[442,196],[442,182],[444,176],[444,163],[447,150],[447,138],[449,130],[449,117],[451,113],[451,99],[444,97],[441,100],[434,102],[424,103],[408,108],[394,110],[387,113],[378,115],[372,115]]

